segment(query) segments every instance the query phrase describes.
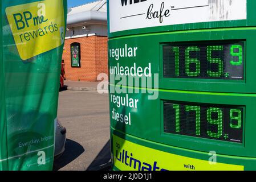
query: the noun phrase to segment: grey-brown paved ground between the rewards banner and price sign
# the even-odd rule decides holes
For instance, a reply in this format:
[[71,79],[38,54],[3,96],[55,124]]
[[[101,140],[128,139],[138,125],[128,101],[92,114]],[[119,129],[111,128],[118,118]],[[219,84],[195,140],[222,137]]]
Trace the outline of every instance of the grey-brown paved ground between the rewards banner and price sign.
[[67,142],[54,170],[96,170],[110,161],[107,94],[63,90],[59,93],[58,118],[67,129]]

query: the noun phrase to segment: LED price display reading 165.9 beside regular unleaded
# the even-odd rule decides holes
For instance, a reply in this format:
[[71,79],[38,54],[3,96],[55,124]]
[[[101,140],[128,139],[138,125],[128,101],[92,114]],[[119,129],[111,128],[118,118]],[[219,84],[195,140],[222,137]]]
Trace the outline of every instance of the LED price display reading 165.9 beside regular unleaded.
[[163,46],[164,77],[244,80],[244,44],[200,42]]

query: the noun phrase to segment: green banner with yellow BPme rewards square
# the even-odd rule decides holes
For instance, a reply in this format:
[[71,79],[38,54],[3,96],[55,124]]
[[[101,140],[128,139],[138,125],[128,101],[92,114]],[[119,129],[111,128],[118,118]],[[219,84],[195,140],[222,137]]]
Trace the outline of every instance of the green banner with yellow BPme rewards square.
[[51,170],[66,0],[0,2],[0,169]]

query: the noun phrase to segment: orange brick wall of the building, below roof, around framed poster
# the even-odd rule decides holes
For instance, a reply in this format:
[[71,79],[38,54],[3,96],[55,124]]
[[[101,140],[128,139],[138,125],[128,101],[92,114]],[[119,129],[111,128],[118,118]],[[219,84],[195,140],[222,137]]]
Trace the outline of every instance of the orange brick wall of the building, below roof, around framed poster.
[[[81,46],[81,68],[71,67],[70,44],[78,42]],[[108,74],[108,38],[88,36],[66,39],[62,59],[65,64],[66,79],[73,81],[97,81],[100,73]]]

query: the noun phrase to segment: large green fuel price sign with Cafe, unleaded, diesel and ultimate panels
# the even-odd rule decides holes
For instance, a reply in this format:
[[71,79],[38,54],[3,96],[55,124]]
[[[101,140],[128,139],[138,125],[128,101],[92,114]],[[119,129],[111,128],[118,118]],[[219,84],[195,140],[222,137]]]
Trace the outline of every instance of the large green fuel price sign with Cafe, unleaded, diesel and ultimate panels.
[[113,169],[256,169],[254,6],[108,1]]

